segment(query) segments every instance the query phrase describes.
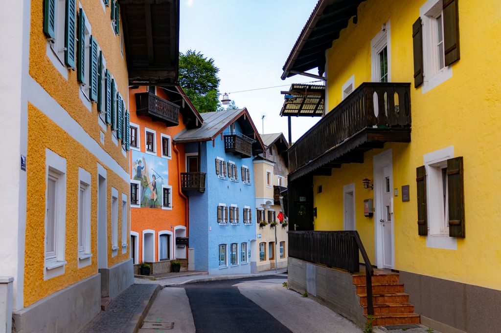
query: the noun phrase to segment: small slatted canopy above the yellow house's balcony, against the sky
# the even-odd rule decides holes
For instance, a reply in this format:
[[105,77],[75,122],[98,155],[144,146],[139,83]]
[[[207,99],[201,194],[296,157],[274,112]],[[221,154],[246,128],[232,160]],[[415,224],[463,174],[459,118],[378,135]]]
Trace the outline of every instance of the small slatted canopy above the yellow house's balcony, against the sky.
[[324,114],[325,85],[293,83],[285,94],[281,116],[319,116]]

